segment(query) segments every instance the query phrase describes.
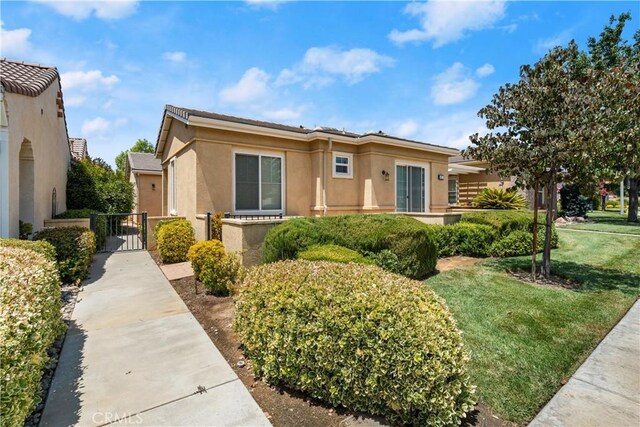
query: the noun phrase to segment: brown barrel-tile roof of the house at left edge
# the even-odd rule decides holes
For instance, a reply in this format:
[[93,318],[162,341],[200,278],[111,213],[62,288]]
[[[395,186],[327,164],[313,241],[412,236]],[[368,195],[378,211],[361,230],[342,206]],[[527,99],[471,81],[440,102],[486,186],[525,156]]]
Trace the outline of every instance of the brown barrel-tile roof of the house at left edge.
[[0,80],[7,92],[38,96],[58,77],[55,67],[0,59]]

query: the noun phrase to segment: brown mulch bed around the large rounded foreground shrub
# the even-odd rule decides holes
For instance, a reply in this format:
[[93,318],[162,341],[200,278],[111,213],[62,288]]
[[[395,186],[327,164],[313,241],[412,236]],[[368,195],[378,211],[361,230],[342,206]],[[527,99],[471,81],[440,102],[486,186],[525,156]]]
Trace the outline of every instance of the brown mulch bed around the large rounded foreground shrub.
[[[161,265],[157,252],[149,253]],[[463,264],[472,264],[476,260],[464,261],[467,262]],[[254,376],[251,363],[245,360],[240,340],[233,330],[234,305],[231,297],[207,294],[202,284],[193,277],[172,280],[170,283],[274,426],[355,425],[359,414],[344,408],[333,408],[295,390],[270,386]],[[239,367],[238,362],[243,367]],[[512,427],[514,424],[501,420],[487,406],[478,403],[463,425]]]

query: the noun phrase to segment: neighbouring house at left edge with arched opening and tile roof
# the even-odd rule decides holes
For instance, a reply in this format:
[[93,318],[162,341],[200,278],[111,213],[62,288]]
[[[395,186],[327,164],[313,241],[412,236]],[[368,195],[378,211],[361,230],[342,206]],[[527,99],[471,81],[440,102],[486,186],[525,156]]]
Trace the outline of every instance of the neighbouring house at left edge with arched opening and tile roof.
[[0,236],[66,210],[69,137],[58,70],[0,60]]

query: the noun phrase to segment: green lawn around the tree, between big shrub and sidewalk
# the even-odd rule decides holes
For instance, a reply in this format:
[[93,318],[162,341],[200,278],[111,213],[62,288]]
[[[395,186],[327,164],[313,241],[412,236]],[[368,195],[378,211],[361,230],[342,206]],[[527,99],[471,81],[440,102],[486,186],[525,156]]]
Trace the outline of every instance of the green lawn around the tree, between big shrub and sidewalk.
[[528,257],[487,260],[426,281],[463,331],[480,400],[518,424],[535,416],[640,293],[640,238],[559,234],[553,272],[581,283],[578,290],[504,273],[528,268]]

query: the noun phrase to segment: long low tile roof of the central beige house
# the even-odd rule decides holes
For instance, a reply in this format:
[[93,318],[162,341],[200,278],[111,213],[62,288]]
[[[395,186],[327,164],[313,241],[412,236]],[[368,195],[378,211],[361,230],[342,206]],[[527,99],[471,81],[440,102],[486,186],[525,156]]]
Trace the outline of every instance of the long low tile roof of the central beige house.
[[183,120],[188,121],[189,118],[191,116],[195,116],[195,117],[202,117],[202,118],[207,118],[207,119],[215,119],[215,120],[222,120],[222,121],[226,121],[226,122],[232,122],[232,123],[239,123],[239,124],[245,124],[245,125],[252,125],[252,126],[259,126],[259,127],[264,127],[264,128],[269,128],[269,129],[276,129],[276,130],[284,130],[284,131],[288,131],[288,132],[295,132],[295,133],[300,133],[300,134],[310,134],[313,132],[323,132],[323,133],[329,133],[329,134],[333,134],[333,135],[341,135],[341,136],[346,136],[348,138],[354,138],[354,139],[358,139],[358,138],[364,138],[370,135],[375,135],[378,137],[382,137],[382,138],[387,138],[387,139],[393,139],[393,140],[397,140],[397,141],[404,141],[404,142],[411,142],[414,144],[420,144],[420,145],[426,145],[426,146],[431,146],[431,147],[437,147],[437,148],[447,148],[447,149],[451,149],[451,147],[447,147],[444,145],[436,145],[436,144],[430,144],[427,142],[423,142],[423,141],[416,141],[414,139],[407,139],[407,138],[400,138],[397,136],[393,136],[393,135],[387,135],[386,133],[382,132],[382,131],[378,131],[378,132],[366,132],[366,133],[355,133],[355,132],[349,132],[349,131],[345,131],[345,130],[340,130],[340,129],[336,129],[336,128],[331,128],[331,127],[316,127],[316,128],[306,128],[302,125],[300,126],[290,126],[290,125],[283,125],[280,123],[273,123],[273,122],[265,122],[265,121],[261,121],[261,120],[253,120],[253,119],[245,119],[242,117],[235,117],[235,116],[229,116],[226,114],[219,114],[219,113],[212,113],[209,111],[201,111],[201,110],[193,110],[190,108],[182,108],[182,107],[176,107],[173,105],[166,105],[165,106],[165,112],[170,112],[180,118],[182,118]]

